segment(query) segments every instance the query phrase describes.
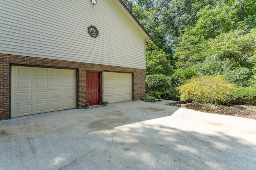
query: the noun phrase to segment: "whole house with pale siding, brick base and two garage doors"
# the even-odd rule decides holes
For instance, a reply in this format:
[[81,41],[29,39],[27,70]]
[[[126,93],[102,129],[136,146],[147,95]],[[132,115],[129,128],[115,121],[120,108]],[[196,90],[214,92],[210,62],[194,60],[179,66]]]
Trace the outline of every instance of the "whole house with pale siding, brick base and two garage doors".
[[122,0],[0,1],[0,25],[0,120],[145,95],[152,38]]

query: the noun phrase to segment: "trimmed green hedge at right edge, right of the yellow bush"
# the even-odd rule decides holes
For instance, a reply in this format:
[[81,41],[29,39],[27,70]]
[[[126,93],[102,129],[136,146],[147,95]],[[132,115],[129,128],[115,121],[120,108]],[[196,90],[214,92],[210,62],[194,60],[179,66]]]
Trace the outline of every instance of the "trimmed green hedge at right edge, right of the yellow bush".
[[256,105],[256,87],[238,87],[226,98],[228,105]]

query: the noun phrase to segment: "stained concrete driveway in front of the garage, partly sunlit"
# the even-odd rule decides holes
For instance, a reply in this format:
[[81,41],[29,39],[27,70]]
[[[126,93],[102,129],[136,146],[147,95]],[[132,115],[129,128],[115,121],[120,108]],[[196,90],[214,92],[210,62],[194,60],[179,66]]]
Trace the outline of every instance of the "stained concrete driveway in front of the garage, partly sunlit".
[[252,170],[256,120],[143,101],[19,117],[0,121],[0,169]]

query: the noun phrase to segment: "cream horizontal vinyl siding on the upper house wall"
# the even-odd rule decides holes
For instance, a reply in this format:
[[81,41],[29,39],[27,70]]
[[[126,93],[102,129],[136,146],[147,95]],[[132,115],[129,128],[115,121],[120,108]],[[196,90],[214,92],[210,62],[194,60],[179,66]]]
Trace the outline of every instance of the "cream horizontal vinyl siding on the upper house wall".
[[1,1],[0,24],[0,53],[145,69],[145,38],[112,0]]

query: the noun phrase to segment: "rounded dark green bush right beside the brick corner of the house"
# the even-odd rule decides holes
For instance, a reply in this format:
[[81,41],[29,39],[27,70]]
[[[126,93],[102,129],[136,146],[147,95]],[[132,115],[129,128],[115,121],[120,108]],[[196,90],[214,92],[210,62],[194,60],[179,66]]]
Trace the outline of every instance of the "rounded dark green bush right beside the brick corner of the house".
[[[159,93],[163,93],[165,89],[170,87],[169,79],[166,75],[154,74],[146,76],[146,93],[155,97],[159,96]],[[157,94],[156,94],[157,93]]]

